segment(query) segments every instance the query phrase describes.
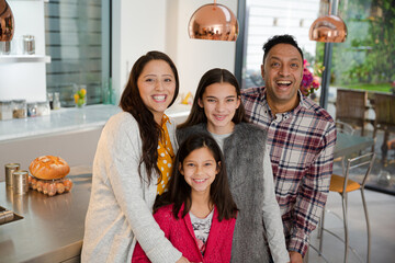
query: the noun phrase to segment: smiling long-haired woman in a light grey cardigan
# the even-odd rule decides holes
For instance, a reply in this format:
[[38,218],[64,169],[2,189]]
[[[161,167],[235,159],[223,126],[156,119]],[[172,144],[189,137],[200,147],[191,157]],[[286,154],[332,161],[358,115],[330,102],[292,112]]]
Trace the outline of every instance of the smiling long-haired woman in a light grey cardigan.
[[165,110],[178,92],[178,72],[167,55],[149,52],[133,66],[123,112],[109,119],[98,144],[82,262],[131,262],[137,240],[153,262],[188,262],[151,210],[171,174],[174,122]]

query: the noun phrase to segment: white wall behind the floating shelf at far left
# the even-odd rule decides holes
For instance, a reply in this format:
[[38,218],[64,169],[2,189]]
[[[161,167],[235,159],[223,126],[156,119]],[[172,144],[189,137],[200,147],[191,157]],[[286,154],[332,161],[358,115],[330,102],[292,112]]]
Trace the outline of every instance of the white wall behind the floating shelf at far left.
[[[15,21],[11,55],[22,55],[22,36],[34,35],[35,55],[45,56],[44,1],[9,0],[8,3]],[[18,99],[46,100],[45,62],[0,62],[0,100]]]

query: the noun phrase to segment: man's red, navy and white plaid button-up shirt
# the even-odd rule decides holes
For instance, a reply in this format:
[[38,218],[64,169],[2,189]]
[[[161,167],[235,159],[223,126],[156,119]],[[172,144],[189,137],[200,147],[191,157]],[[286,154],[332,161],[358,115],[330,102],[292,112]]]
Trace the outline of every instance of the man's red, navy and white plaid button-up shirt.
[[268,130],[275,195],[287,250],[304,255],[329,192],[336,127],[331,116],[298,92],[300,104],[273,117],[264,88],[242,90],[248,118]]

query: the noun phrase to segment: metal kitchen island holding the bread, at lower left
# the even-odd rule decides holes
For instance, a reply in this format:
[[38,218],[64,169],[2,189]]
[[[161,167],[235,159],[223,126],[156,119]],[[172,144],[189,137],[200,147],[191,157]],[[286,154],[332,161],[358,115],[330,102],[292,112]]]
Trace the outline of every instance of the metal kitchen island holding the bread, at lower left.
[[[87,169],[86,169],[87,170]],[[70,193],[15,195],[0,183],[0,206],[23,219],[0,225],[0,262],[79,262],[92,174],[71,173]]]

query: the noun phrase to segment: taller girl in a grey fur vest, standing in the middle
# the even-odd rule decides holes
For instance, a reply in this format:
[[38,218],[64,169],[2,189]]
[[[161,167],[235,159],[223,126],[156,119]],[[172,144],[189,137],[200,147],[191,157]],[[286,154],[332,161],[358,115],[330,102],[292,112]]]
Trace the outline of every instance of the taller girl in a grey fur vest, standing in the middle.
[[267,134],[247,123],[236,78],[226,69],[208,70],[198,85],[190,116],[178,128],[179,142],[206,133],[224,152],[230,192],[239,209],[232,262],[270,262],[266,239],[274,262],[289,262]]

